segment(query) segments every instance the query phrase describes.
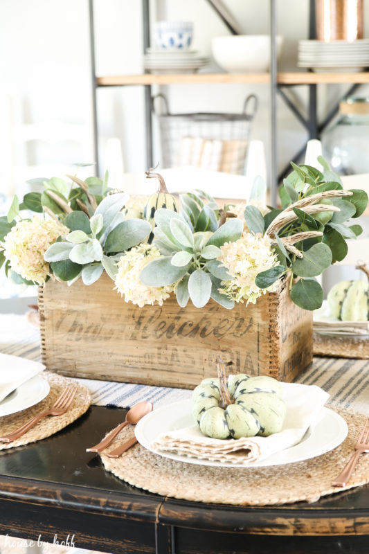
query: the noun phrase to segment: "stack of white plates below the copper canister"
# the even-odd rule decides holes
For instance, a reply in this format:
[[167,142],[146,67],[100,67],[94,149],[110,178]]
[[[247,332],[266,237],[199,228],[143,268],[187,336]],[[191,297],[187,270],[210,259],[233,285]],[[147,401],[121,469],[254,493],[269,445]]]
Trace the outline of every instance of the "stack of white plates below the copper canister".
[[369,67],[369,39],[354,42],[300,40],[298,67],[314,71],[362,71]]

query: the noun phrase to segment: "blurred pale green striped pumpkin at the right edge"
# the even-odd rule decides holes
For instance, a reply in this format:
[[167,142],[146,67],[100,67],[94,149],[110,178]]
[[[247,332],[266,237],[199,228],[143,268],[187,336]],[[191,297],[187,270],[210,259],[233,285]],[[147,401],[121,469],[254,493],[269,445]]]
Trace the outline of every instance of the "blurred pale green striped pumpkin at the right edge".
[[327,303],[336,319],[368,321],[369,283],[361,279],[340,281],[328,292]]

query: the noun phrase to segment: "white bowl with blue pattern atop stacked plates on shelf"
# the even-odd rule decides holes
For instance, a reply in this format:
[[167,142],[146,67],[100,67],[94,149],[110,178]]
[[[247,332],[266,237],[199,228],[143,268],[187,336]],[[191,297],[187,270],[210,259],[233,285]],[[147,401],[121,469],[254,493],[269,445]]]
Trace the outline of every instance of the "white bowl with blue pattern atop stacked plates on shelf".
[[187,50],[192,42],[191,21],[156,21],[154,43],[164,50]]

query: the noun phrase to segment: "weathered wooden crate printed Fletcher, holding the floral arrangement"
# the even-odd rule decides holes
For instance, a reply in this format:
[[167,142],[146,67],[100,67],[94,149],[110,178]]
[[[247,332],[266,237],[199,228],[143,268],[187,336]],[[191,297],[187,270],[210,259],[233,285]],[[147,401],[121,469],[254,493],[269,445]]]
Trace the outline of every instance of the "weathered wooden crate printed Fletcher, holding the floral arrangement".
[[193,388],[216,375],[215,355],[230,373],[291,381],[312,361],[312,312],[289,298],[287,283],[255,305],[200,310],[125,303],[105,274],[87,287],[49,281],[39,289],[42,357],[73,377]]

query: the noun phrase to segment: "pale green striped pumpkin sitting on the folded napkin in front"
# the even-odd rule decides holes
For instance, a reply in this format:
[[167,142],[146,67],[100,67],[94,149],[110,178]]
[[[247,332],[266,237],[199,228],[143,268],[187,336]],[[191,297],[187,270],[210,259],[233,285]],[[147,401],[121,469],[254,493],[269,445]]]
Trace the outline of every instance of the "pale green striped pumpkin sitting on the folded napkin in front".
[[201,432],[212,438],[269,436],[282,429],[286,404],[280,383],[272,377],[241,373],[224,381],[221,375],[195,388],[192,414]]

